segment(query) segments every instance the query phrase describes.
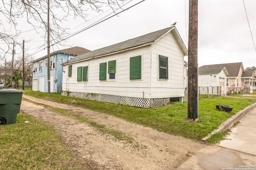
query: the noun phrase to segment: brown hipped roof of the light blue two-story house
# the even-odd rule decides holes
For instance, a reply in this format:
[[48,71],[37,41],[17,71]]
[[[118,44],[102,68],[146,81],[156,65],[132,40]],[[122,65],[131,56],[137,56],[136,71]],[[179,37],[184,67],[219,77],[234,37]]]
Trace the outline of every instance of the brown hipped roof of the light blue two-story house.
[[[90,52],[90,50],[88,49],[85,49],[83,47],[71,47],[71,48],[68,48],[68,49],[62,49],[62,50],[58,50],[58,51],[54,51],[52,53],[50,53],[50,55],[53,55],[55,53],[66,53],[66,54],[72,54],[72,55],[80,55],[80,54],[84,54],[84,53],[88,53]],[[45,55],[44,57],[40,57],[39,59],[36,59],[33,61],[36,62],[36,61],[39,61],[39,60],[42,60],[44,58],[46,58],[47,55]]]

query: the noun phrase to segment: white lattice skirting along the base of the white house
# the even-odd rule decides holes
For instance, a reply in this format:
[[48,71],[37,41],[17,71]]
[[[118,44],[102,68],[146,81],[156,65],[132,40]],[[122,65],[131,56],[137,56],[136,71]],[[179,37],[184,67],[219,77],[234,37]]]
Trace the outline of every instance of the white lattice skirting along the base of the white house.
[[127,104],[136,107],[160,107],[170,104],[170,98],[132,98],[125,96],[115,96],[110,94],[95,94],[95,93],[82,93],[82,92],[66,92],[62,91],[62,96],[71,96],[75,98],[83,98],[89,100],[96,100],[100,102],[110,102],[115,104]]

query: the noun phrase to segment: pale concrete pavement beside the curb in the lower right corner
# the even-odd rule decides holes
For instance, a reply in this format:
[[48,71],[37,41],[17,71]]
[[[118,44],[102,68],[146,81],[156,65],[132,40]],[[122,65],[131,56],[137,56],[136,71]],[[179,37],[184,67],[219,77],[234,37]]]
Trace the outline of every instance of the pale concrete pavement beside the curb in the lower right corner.
[[227,140],[207,146],[180,165],[179,170],[256,170],[256,108],[233,126]]

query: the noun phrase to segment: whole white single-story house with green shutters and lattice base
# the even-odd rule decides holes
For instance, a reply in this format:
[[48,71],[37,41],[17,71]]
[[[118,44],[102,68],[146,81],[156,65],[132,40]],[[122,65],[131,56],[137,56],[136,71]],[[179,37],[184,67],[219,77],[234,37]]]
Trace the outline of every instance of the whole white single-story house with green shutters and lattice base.
[[183,102],[185,55],[174,26],[78,55],[63,64],[62,95],[138,107]]

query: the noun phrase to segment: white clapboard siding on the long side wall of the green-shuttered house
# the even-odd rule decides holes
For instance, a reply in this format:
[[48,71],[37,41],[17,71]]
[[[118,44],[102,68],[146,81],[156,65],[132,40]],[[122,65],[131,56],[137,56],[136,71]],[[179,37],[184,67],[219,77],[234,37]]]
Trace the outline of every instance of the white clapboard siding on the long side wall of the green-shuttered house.
[[[140,80],[129,80],[130,57],[142,57],[142,78]],[[72,64],[72,77],[63,74],[62,90],[70,92],[84,92],[96,94],[111,94],[116,96],[128,96],[142,98],[143,92],[145,98],[150,98],[150,64],[149,64],[149,45],[123,53],[91,59]],[[116,60],[116,78],[107,78],[104,81],[99,80],[100,63]],[[88,81],[77,82],[77,67],[88,66]],[[107,64],[108,66],[108,64]],[[65,66],[65,71],[68,72]]]

